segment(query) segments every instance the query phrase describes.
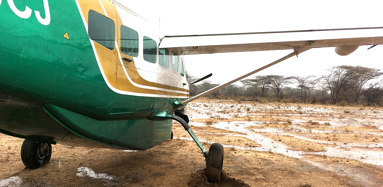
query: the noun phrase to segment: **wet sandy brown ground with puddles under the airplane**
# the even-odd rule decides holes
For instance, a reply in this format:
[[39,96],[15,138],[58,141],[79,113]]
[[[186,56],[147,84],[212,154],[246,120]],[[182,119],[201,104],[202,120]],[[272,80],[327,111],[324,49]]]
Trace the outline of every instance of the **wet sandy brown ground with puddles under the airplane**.
[[225,147],[220,184],[206,181],[200,150],[173,123],[174,139],[146,151],[52,145],[34,170],[21,162],[23,139],[0,134],[0,187],[383,186],[381,108],[201,99],[187,111],[206,149]]

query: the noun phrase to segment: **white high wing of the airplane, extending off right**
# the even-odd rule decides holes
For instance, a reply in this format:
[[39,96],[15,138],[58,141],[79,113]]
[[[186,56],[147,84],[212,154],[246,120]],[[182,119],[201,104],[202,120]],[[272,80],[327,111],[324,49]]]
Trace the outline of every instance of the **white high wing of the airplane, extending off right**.
[[383,27],[165,36],[159,47],[191,55],[379,44],[383,44]]

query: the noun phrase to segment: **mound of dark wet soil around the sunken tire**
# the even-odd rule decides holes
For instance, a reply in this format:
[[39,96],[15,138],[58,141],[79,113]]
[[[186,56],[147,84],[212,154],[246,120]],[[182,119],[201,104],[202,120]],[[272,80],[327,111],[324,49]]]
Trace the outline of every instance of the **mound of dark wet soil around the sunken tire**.
[[205,169],[192,173],[191,177],[192,180],[188,183],[191,187],[250,187],[242,180],[229,177],[226,172],[223,172],[221,180],[218,183],[208,182],[208,178],[205,175]]

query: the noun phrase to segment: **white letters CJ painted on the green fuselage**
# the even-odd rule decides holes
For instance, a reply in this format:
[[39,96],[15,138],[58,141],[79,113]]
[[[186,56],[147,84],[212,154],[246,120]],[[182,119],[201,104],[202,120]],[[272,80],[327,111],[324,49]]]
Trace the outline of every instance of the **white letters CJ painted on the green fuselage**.
[[[0,0],[0,4],[1,4]],[[28,6],[25,6],[24,11],[20,11],[16,8],[15,3],[13,3],[13,0],[7,0],[9,7],[11,10],[20,18],[27,19],[31,16],[32,10]],[[45,18],[41,18],[40,12],[35,10],[34,14],[36,15],[37,20],[43,24],[43,25],[49,25],[51,23],[51,14],[49,12],[49,5],[48,5],[48,0],[43,0],[44,2],[44,11],[45,11]]]

